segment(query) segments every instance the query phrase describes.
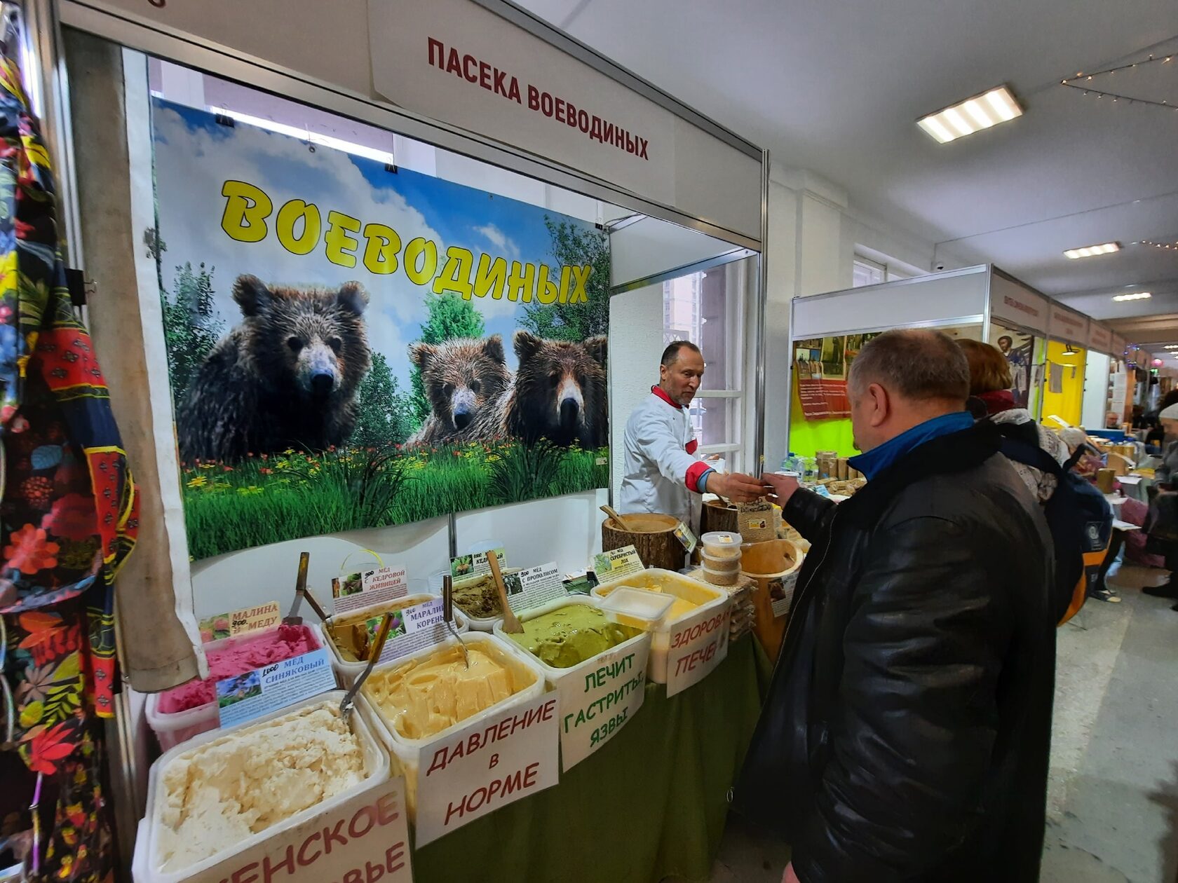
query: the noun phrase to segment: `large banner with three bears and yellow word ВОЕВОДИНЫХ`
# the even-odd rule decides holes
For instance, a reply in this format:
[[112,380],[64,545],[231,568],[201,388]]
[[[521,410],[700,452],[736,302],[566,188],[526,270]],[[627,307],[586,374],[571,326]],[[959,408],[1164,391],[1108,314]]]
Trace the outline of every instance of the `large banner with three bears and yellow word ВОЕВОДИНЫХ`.
[[154,99],[193,558],[608,480],[595,225]]

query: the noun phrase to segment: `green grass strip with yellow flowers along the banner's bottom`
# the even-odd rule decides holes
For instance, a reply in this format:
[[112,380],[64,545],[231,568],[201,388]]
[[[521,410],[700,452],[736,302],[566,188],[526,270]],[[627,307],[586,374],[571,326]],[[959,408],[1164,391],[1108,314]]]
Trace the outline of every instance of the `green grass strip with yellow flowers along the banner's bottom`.
[[287,450],[236,464],[185,463],[193,559],[327,532],[602,487],[608,449],[517,440]]

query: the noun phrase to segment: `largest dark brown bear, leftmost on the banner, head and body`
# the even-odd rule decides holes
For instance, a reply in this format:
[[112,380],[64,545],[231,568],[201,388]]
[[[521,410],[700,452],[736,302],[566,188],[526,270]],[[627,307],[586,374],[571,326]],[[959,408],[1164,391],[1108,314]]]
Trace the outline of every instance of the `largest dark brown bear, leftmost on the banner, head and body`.
[[241,321],[209,353],[179,407],[185,460],[325,450],[356,425],[356,390],[371,364],[359,283],[267,286],[239,275]]

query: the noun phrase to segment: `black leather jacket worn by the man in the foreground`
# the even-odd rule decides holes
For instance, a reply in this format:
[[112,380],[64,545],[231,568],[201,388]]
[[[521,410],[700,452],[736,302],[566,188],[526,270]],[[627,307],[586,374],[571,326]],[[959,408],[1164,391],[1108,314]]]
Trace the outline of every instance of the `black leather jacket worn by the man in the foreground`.
[[995,430],[785,517],[813,544],[734,801],[803,883],[1031,883],[1055,668],[1052,545]]

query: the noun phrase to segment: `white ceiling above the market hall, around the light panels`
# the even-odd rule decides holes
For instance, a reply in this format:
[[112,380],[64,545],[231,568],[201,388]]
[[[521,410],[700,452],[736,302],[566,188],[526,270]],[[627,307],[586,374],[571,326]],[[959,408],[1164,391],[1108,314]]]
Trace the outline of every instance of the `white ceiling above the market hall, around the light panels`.
[[[1176,0],[517,2],[871,215],[1096,318],[1178,314],[1178,250],[1133,245],[1178,241],[1178,112],[1059,82],[1178,52]],[[948,145],[914,125],[1002,82],[1026,107],[1013,122]],[[1106,82],[1178,105],[1178,57]],[[1129,290],[1153,298],[1112,300]]]

